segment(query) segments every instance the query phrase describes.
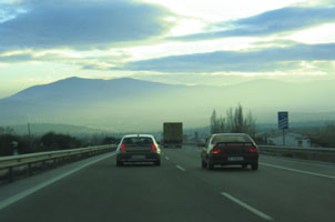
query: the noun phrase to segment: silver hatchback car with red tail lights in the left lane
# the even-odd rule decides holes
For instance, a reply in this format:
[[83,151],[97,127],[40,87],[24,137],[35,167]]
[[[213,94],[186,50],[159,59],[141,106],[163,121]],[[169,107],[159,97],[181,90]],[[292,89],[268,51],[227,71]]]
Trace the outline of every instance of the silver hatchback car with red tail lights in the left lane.
[[116,153],[118,167],[125,162],[152,162],[161,165],[161,149],[151,134],[124,135]]

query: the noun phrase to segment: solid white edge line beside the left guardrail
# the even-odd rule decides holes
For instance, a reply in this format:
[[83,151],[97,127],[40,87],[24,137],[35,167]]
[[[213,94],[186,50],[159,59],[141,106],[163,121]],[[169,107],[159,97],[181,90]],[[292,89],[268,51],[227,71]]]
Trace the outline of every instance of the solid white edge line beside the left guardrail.
[[21,199],[28,196],[28,195],[30,195],[30,194],[32,194],[32,193],[34,193],[34,192],[41,190],[41,189],[43,189],[43,188],[45,188],[45,186],[48,186],[48,185],[50,185],[50,184],[52,184],[52,183],[54,183],[54,182],[57,182],[57,181],[63,179],[63,178],[65,178],[65,176],[72,174],[72,173],[75,173],[77,171],[79,171],[79,170],[81,170],[81,169],[83,169],[83,168],[87,168],[87,167],[89,167],[89,165],[91,165],[91,164],[93,164],[93,163],[97,163],[97,162],[99,162],[99,161],[101,161],[101,160],[104,160],[104,159],[106,159],[106,158],[113,157],[114,154],[115,154],[114,152],[113,152],[113,153],[110,153],[110,154],[106,154],[106,155],[104,155],[104,157],[102,157],[102,158],[99,158],[99,159],[93,160],[93,161],[91,161],[91,162],[88,162],[88,163],[85,163],[85,164],[83,164],[83,165],[81,165],[81,167],[79,167],[79,168],[75,168],[75,169],[73,169],[73,170],[71,170],[71,171],[68,171],[68,172],[65,172],[65,173],[63,173],[63,174],[60,174],[60,175],[58,175],[58,176],[55,176],[55,178],[53,178],[53,179],[51,179],[51,180],[49,180],[49,181],[45,181],[45,182],[40,183],[40,184],[38,184],[38,185],[33,186],[33,188],[30,188],[30,189],[28,189],[28,190],[26,190],[26,191],[23,191],[23,192],[21,192],[21,193],[18,193],[18,194],[16,194],[16,195],[13,195],[13,196],[11,196],[11,198],[9,198],[9,199],[6,199],[6,200],[3,200],[3,201],[0,201],[0,210],[4,209],[6,206],[8,206],[8,205],[10,205],[10,204],[12,204],[12,203],[14,203],[14,202],[17,202],[17,201],[19,201],[19,200],[21,200]]

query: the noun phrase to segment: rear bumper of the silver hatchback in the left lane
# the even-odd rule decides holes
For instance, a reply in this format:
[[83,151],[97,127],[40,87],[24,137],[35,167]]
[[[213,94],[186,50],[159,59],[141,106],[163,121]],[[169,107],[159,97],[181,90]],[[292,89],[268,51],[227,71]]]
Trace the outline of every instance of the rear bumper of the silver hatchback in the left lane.
[[161,160],[159,153],[119,153],[116,160],[121,162],[155,162]]

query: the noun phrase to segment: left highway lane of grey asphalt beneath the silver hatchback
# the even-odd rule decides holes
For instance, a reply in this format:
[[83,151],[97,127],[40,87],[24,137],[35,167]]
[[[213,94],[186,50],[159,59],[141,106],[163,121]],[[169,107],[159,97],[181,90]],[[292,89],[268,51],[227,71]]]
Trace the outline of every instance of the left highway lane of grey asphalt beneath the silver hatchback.
[[0,211],[0,221],[260,221],[173,163],[115,167],[110,158]]

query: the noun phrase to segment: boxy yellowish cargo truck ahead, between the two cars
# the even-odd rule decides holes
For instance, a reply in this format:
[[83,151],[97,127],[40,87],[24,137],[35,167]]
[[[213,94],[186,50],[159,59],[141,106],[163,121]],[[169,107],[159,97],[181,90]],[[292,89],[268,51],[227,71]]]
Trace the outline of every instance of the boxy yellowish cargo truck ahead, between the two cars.
[[183,144],[183,123],[164,122],[163,123],[163,147],[182,148]]

